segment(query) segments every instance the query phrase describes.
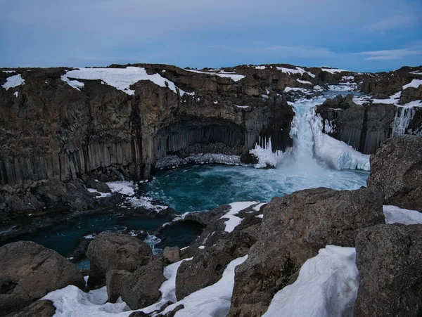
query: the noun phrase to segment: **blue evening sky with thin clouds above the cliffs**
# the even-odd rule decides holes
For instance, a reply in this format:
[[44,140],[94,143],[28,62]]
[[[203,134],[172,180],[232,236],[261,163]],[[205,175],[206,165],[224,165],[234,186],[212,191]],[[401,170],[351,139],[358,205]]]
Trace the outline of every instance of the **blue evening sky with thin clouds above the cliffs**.
[[0,0],[0,67],[422,65],[421,0]]

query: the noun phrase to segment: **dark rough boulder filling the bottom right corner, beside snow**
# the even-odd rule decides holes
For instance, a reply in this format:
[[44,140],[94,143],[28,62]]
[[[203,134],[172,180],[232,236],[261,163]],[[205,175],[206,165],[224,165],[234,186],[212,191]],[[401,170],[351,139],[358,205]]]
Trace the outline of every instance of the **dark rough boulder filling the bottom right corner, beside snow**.
[[421,316],[422,226],[378,225],[356,238],[354,316]]

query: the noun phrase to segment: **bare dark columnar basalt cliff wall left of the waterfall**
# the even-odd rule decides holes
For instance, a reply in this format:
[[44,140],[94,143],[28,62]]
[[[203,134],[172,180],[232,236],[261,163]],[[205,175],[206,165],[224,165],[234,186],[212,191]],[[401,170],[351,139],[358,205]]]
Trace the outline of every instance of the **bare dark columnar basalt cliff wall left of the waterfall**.
[[[79,91],[60,79],[65,68],[16,70],[25,84],[8,91],[0,87],[2,214],[10,217],[13,212],[48,207],[32,188],[86,179],[85,174],[101,182],[117,180],[120,174],[148,177],[155,160],[172,153],[188,155],[192,147],[207,153],[221,148],[213,146],[221,143],[227,153],[240,155],[260,136],[271,136],[274,150],[290,145],[294,113],[277,92],[295,80],[275,67],[238,67],[236,72],[245,78],[234,82],[170,65],[135,66],[145,67],[148,74],[160,73],[196,94],[181,96],[140,81],[132,85],[136,93],[131,96],[100,80],[84,79],[79,79],[84,83]],[[8,76],[0,71],[0,84]],[[266,89],[271,93],[262,98]],[[102,183],[88,180],[88,185],[108,192]],[[15,201],[9,195],[25,197]],[[54,195],[53,200],[62,201],[62,196]],[[72,210],[80,208],[69,205]]]

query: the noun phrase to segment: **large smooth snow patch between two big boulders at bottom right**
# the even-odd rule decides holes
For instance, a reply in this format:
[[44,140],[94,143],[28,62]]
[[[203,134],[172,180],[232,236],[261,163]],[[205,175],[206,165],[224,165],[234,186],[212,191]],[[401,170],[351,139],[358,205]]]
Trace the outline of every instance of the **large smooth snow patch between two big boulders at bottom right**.
[[327,245],[302,265],[298,280],[274,295],[263,317],[352,316],[359,288],[353,247]]

